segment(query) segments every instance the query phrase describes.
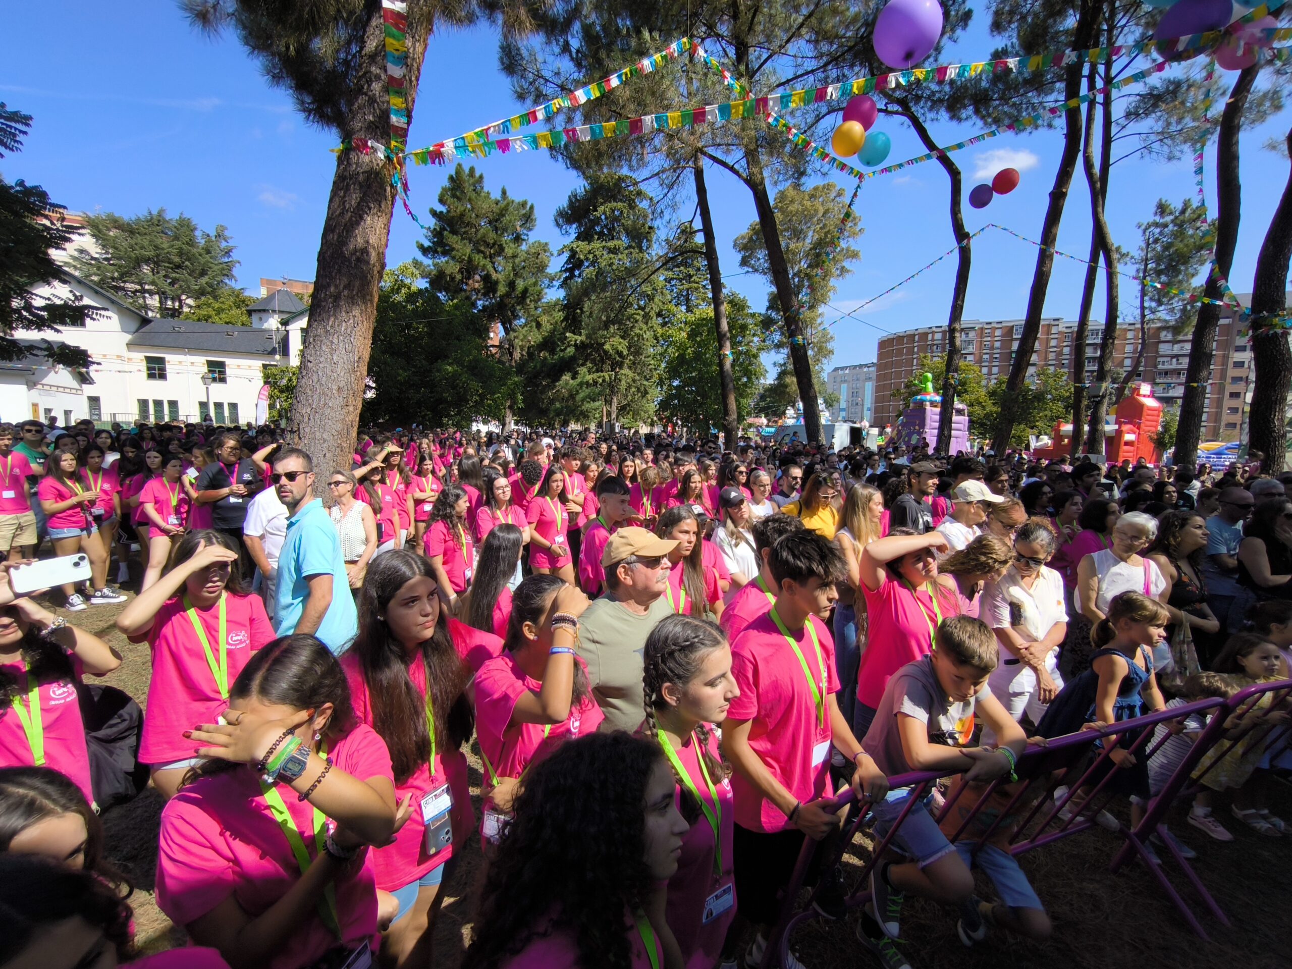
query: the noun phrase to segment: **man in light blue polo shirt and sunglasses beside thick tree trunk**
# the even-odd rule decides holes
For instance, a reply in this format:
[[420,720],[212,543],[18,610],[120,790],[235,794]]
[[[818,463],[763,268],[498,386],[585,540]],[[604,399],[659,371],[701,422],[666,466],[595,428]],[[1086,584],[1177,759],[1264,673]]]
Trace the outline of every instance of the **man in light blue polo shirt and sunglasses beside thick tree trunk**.
[[358,634],[359,615],[336,526],[314,497],[314,461],[295,447],[279,451],[270,481],[289,516],[278,553],[278,634],[311,633],[340,654]]

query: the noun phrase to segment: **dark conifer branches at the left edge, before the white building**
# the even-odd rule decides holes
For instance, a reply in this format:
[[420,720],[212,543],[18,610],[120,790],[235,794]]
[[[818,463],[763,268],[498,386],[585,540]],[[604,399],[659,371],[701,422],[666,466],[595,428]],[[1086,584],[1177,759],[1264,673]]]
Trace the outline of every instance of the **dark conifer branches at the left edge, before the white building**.
[[[0,102],[0,158],[21,151],[22,140],[31,128],[31,115],[14,111]],[[16,336],[22,331],[57,333],[58,327],[85,326],[94,310],[80,298],[37,298],[31,291],[61,275],[58,264],[49,255],[71,240],[62,226],[62,205],[49,200],[39,185],[21,178],[9,183],[0,178],[0,359],[17,360],[31,353]],[[37,349],[50,363],[85,367],[89,357],[76,348],[41,341]]]

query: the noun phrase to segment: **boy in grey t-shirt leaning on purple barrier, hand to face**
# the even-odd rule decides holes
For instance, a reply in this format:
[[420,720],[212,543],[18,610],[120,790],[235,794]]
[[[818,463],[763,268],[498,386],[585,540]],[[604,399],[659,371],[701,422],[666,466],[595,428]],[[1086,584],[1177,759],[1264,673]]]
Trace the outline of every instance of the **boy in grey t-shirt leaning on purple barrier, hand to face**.
[[[938,625],[935,643],[932,655],[907,663],[889,680],[862,747],[890,778],[933,770],[988,782],[1012,774],[1027,738],[987,689],[999,655],[995,634],[977,619],[951,616]],[[999,748],[966,745],[979,716]],[[910,797],[911,788],[899,788],[873,805],[876,833],[888,833]],[[973,875],[924,804],[911,806],[894,844],[913,860],[884,858],[871,868],[872,902],[857,933],[881,960],[891,952],[890,939],[898,938],[906,891],[948,906],[973,895]]]

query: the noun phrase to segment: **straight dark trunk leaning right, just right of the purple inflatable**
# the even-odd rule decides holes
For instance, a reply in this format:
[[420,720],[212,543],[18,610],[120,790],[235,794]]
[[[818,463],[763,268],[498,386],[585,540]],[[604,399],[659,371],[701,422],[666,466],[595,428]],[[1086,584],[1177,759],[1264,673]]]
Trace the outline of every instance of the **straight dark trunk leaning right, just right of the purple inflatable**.
[[[1093,47],[1094,37],[1098,35],[1102,3],[1103,0],[1081,0],[1076,27],[1072,31],[1074,49],[1084,50]],[[1063,99],[1071,101],[1080,93],[1081,65],[1072,63],[1065,68]],[[1067,190],[1072,185],[1072,172],[1076,171],[1076,159],[1080,154],[1081,110],[1072,107],[1063,112],[1063,154],[1059,158],[1058,171],[1054,172],[1054,185],[1049,193],[1045,221],[1041,224],[1041,244],[1036,251],[1036,269],[1032,273],[1032,288],[1027,296],[1023,332],[1014,344],[1014,362],[1005,382],[1006,394],[1004,406],[1000,408],[1000,422],[991,442],[996,453],[1005,453],[1009,439],[1014,435],[1017,404],[1023,381],[1027,380],[1027,368],[1031,366],[1032,354],[1036,351],[1036,335],[1040,332],[1041,314],[1045,311],[1045,292],[1049,289],[1050,271],[1054,269],[1054,243],[1058,240],[1058,225],[1063,218]],[[1075,429],[1072,433],[1076,433]]]

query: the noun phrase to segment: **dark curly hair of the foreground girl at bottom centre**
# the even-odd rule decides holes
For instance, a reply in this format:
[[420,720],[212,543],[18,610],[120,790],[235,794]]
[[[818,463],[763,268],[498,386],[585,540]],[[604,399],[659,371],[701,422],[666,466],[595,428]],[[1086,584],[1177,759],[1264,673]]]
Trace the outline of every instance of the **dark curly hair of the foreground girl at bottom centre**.
[[651,740],[616,731],[570,740],[534,765],[490,866],[464,969],[494,969],[554,932],[572,935],[580,965],[629,969],[624,917],[651,891],[646,788],[663,758]]

